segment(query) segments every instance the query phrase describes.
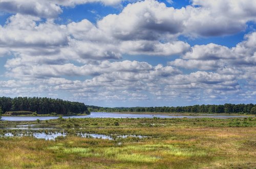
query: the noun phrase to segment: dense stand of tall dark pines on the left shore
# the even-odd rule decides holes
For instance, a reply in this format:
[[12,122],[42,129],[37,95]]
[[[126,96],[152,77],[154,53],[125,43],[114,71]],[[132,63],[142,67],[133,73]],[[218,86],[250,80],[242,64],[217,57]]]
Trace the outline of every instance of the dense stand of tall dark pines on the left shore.
[[0,112],[1,111],[3,111],[3,114],[7,111],[32,111],[40,115],[90,113],[84,103],[46,97],[0,97]]

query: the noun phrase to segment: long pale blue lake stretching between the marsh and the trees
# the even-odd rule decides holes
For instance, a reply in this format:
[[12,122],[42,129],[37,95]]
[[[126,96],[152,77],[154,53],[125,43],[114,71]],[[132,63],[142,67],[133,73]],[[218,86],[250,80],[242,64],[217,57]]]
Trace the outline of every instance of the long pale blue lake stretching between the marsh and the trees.
[[[86,116],[63,116],[62,118],[246,118],[247,116],[221,116],[221,115],[200,115],[200,116],[177,116],[174,114],[120,114],[117,112],[91,112],[91,115]],[[1,120],[7,121],[36,121],[39,120],[50,120],[50,119],[58,119],[58,116],[3,116]]]

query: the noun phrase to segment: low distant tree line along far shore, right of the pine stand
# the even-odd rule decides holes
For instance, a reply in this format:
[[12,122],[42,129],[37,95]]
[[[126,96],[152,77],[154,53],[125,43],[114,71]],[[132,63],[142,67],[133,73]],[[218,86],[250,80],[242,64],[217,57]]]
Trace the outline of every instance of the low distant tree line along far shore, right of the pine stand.
[[99,107],[87,105],[90,111],[106,112],[193,112],[193,113],[227,113],[227,114],[256,114],[256,104],[224,104],[224,105],[193,105],[177,107]]

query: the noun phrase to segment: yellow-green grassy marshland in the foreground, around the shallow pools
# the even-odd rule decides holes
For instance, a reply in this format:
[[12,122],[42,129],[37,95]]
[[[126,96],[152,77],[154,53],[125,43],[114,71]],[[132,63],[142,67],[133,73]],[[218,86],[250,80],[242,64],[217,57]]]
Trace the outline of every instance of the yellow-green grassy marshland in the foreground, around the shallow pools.
[[[1,121],[0,135],[23,132],[4,128],[25,124],[53,127],[40,132],[67,136],[0,137],[0,168],[256,168],[256,118]],[[77,133],[112,134],[115,139]]]

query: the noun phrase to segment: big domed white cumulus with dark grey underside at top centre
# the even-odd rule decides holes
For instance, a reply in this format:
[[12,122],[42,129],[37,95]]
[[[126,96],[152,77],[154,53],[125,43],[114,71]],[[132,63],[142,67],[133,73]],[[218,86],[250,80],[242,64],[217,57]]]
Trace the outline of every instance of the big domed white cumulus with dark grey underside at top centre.
[[127,5],[116,15],[105,16],[97,24],[99,29],[122,40],[157,40],[183,30],[184,17],[164,3],[146,0]]

